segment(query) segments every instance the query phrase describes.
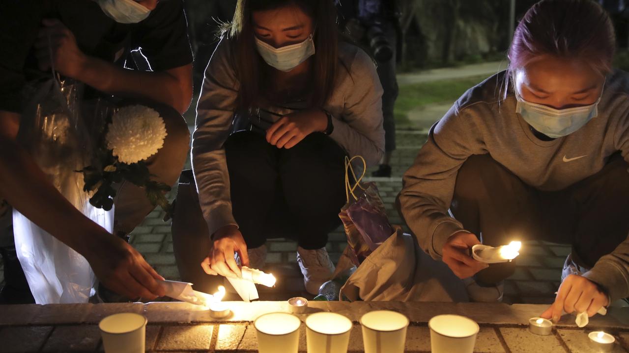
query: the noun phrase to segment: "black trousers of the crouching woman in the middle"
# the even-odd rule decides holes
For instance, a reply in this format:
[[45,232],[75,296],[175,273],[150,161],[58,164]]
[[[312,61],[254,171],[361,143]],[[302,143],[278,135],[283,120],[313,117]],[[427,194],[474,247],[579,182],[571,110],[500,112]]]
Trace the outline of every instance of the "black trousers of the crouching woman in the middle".
[[287,237],[320,249],[340,225],[345,204],[345,151],[313,133],[290,149],[262,134],[242,131],[225,143],[233,215],[247,247]]

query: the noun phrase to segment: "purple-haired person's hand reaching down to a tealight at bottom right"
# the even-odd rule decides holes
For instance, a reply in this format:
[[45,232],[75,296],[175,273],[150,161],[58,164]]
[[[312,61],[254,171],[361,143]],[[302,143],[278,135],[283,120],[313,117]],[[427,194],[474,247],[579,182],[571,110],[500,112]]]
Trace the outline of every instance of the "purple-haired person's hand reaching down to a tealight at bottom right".
[[587,316],[592,317],[608,303],[608,296],[599,290],[596,283],[583,276],[571,274],[561,283],[555,303],[542,314],[542,317],[554,322],[559,321],[563,312],[587,312]]

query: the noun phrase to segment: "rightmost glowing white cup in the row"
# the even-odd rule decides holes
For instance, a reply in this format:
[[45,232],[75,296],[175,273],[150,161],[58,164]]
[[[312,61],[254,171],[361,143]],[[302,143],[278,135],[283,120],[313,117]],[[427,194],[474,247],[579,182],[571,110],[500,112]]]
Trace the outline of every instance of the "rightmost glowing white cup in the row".
[[428,322],[433,353],[473,353],[478,323],[459,315],[437,315]]

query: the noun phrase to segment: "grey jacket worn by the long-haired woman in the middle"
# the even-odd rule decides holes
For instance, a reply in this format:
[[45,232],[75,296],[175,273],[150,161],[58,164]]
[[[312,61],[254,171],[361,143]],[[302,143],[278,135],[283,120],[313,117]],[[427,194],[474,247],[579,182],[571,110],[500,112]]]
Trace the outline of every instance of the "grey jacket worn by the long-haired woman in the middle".
[[[233,131],[240,87],[231,55],[229,40],[223,38],[205,70],[192,135],[192,168],[209,234],[225,225],[238,225],[231,212],[230,176],[223,148]],[[382,86],[376,66],[365,52],[347,43],[340,43],[339,59],[345,65],[338,66],[335,89],[322,107],[333,116],[330,137],[349,156],[363,156],[369,165],[374,165],[384,154]],[[260,108],[280,115],[292,112],[280,107]]]

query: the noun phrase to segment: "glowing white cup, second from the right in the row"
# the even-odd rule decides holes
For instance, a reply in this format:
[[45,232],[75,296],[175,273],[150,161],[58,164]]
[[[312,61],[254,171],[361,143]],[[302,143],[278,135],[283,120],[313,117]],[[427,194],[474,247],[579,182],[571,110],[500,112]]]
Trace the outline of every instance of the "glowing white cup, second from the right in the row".
[[376,310],[360,318],[365,353],[403,353],[408,317],[390,310]]

